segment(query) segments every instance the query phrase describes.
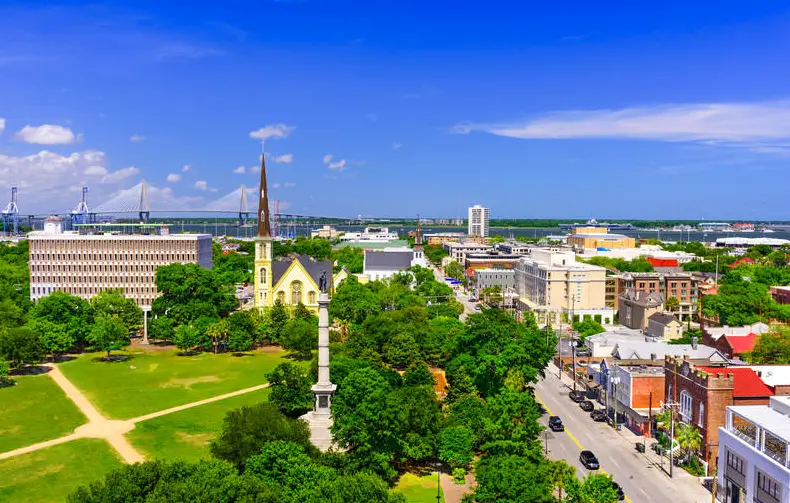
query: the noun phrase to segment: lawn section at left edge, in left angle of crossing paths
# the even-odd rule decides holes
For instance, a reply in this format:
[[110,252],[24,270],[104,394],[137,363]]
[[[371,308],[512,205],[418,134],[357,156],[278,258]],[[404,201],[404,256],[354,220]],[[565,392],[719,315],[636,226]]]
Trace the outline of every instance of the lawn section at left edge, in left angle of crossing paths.
[[85,416],[47,375],[14,377],[0,388],[0,452],[51,440],[74,431]]

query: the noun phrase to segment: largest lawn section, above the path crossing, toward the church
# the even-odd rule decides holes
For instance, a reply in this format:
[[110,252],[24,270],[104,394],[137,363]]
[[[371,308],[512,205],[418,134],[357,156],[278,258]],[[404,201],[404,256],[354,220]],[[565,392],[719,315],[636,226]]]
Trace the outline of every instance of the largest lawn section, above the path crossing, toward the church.
[[126,361],[101,361],[101,353],[80,355],[61,371],[93,405],[112,419],[130,419],[266,382],[264,374],[284,361],[282,351],[248,356],[176,350],[120,351]]

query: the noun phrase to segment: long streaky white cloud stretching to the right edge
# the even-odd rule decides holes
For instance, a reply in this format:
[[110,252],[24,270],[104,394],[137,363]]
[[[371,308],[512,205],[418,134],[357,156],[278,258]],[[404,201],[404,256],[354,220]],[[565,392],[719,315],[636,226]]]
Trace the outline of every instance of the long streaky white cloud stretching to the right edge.
[[790,139],[790,101],[575,110],[520,123],[461,123],[451,128],[457,134],[472,131],[522,139],[629,138],[753,146]]

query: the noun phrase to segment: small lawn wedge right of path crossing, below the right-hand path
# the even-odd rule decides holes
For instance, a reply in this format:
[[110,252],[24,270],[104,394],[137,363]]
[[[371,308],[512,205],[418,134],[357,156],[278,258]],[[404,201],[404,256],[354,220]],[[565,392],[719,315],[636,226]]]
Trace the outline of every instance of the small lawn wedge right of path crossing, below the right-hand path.
[[268,395],[262,389],[143,421],[126,438],[146,459],[197,461],[209,456],[208,444],[227,411],[264,402]]

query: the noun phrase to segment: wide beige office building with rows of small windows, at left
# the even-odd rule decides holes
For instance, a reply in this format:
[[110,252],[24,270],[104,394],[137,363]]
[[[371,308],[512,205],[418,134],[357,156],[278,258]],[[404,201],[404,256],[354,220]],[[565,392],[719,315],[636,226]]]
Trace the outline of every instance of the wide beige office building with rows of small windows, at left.
[[157,267],[194,263],[211,268],[211,235],[168,234],[153,225],[135,229],[138,233],[103,232],[101,226],[63,231],[59,218],[48,218],[43,231],[28,234],[30,299],[52,292],[90,299],[102,290],[121,290],[148,308],[158,295]]

